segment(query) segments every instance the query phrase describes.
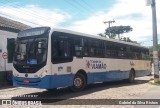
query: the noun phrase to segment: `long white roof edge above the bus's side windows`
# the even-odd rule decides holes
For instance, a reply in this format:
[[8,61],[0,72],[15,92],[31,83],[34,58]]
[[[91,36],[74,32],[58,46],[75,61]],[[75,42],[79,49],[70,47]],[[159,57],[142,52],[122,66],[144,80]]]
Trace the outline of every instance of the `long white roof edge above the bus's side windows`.
[[[84,37],[90,37],[90,38],[95,38],[95,39],[100,39],[100,40],[106,40],[106,41],[115,42],[115,43],[121,43],[121,44],[136,46],[136,47],[147,48],[147,47],[145,47],[145,46],[141,46],[141,45],[139,45],[139,44],[135,44],[135,43],[131,43],[131,42],[120,41],[120,40],[117,40],[117,39],[109,39],[109,38],[100,37],[100,36],[96,36],[96,35],[91,35],[91,34],[85,34],[85,33],[75,32],[75,31],[67,30],[67,29],[52,28],[51,31],[52,31],[52,32],[53,32],[53,31],[59,31],[59,32],[64,32],[64,33],[81,35],[81,36],[84,36]],[[148,49],[148,48],[147,48],[147,49]]]

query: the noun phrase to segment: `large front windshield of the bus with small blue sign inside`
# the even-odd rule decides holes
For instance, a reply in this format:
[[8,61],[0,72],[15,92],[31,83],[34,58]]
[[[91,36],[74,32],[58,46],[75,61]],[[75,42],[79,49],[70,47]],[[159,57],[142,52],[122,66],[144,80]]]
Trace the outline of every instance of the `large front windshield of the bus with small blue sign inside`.
[[47,59],[47,38],[26,37],[17,38],[14,64],[39,65]]

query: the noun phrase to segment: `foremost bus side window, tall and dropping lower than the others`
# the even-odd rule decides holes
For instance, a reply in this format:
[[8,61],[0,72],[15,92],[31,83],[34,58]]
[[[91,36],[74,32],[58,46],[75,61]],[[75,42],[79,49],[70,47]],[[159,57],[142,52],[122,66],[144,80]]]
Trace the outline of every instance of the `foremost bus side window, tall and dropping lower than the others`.
[[52,36],[52,62],[65,63],[73,60],[71,38],[68,34]]

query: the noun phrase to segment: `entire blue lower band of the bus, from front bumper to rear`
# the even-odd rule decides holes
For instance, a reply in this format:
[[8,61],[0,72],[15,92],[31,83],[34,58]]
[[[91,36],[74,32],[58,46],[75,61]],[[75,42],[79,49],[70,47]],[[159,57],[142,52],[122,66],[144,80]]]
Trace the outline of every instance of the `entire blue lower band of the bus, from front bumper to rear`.
[[[139,70],[135,72],[136,77],[149,75],[149,71]],[[13,77],[14,86],[33,87],[33,88],[58,88],[68,87],[73,85],[73,79],[75,74],[65,75],[47,75],[43,78],[20,78]],[[97,72],[87,73],[87,84],[104,82],[104,81],[118,81],[129,78],[129,71],[109,71],[109,72]],[[29,83],[24,83],[23,80],[29,80]]]

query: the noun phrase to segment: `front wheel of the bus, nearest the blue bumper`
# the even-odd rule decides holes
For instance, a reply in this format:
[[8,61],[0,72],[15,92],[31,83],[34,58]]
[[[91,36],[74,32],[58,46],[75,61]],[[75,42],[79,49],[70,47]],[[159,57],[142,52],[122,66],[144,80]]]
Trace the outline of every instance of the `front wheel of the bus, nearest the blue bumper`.
[[73,80],[73,86],[71,87],[71,90],[74,92],[81,91],[86,86],[86,79],[83,74],[78,73],[76,74],[74,80]]

